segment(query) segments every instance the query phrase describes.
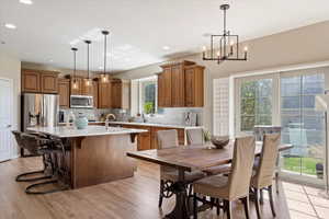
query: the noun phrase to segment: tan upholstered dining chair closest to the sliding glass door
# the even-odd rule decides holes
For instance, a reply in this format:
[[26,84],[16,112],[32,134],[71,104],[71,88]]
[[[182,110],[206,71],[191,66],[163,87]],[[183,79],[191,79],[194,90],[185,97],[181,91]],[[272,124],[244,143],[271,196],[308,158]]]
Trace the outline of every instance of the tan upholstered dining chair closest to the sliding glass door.
[[263,137],[262,152],[259,158],[259,164],[257,166],[256,173],[251,178],[251,191],[254,194],[256,210],[258,219],[261,218],[260,215],[260,193],[262,189],[266,189],[270,196],[270,206],[273,217],[275,217],[275,209],[273,203],[273,174],[276,166],[276,158],[279,155],[279,146],[281,141],[280,134],[265,134]]

